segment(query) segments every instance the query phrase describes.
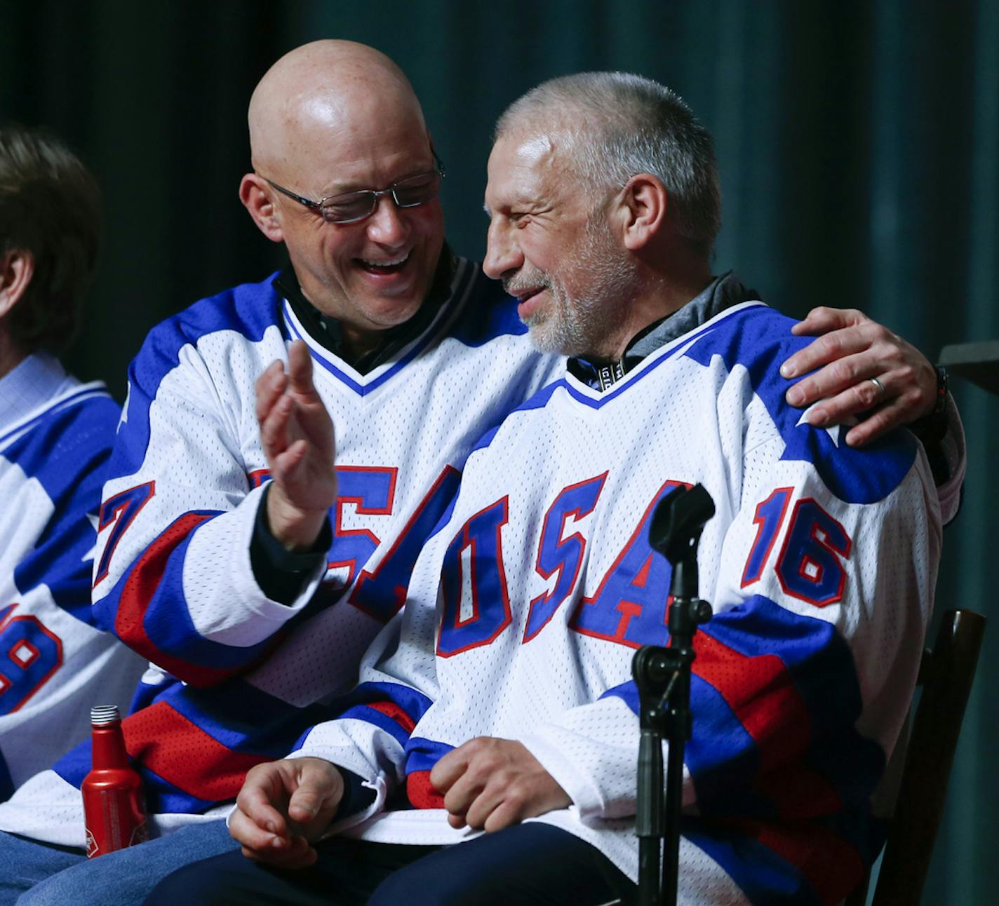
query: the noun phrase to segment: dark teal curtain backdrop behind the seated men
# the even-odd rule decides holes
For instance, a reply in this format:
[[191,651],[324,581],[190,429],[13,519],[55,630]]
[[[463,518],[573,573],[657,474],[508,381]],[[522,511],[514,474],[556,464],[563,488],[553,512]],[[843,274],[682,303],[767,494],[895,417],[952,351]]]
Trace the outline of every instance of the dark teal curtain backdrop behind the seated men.
[[[246,105],[278,56],[321,37],[373,44],[409,73],[465,255],[484,251],[504,105],[550,76],[628,70],[678,91],[714,133],[716,272],[736,268],[792,315],[863,309],[931,358],[999,339],[999,0],[0,0],[0,121],[51,127],[104,187],[103,260],[68,356],[81,378],[121,399],[153,324],[280,265],[237,198]],[[999,400],[953,384],[969,465],[937,609],[994,622],[925,902],[980,904],[999,883]]]

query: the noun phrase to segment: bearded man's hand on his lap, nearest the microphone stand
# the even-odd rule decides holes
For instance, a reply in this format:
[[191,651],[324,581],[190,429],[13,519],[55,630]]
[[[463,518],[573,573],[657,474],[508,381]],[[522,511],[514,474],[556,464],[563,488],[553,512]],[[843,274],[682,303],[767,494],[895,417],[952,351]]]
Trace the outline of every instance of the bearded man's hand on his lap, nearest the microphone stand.
[[480,736],[448,752],[431,771],[452,827],[501,830],[572,800],[519,742]]

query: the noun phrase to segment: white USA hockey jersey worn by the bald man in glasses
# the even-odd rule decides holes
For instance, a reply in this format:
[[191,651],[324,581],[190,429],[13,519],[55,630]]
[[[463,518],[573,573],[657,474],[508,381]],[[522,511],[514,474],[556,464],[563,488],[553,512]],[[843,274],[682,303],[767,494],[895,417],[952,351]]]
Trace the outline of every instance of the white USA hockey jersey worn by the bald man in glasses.
[[[405,600],[466,455],[560,369],[532,351],[515,301],[471,262],[458,262],[427,330],[366,375],[318,344],[272,283],[151,332],[104,489],[94,608],[160,668],[123,722],[160,830],[214,814],[249,768],[329,716],[324,698],[353,685]],[[250,564],[267,477],[253,387],[297,337],[334,422],[339,498],[328,567],[286,605]],[[0,807],[0,829],[82,845],[89,763],[83,745],[33,778]]]

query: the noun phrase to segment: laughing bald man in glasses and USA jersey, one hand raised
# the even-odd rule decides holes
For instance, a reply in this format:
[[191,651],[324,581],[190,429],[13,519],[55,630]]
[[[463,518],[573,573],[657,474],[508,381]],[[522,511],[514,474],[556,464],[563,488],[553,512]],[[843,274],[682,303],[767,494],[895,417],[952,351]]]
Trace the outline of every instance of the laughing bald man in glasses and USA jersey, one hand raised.
[[[0,837],[0,869],[17,866],[0,870],[0,904],[26,890],[21,903],[141,901],[178,864],[233,847],[212,819],[247,770],[337,709],[466,456],[560,369],[531,349],[515,300],[448,249],[443,168],[392,61],[299,48],[257,87],[249,124],[240,197],[290,267],[150,334],[95,557],[95,611],[154,665],[124,727],[154,834],[173,832],[84,862],[83,746],[0,807],[20,835]],[[913,355],[886,346],[886,361]],[[921,412],[931,394],[915,394]],[[391,732],[398,715],[367,710]]]

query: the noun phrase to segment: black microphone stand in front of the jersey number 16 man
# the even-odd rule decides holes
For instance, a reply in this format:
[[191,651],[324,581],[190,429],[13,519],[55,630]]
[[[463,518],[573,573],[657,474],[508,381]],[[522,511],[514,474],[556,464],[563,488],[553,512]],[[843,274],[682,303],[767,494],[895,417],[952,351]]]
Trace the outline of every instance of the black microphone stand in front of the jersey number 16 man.
[[[711,617],[711,605],[697,597],[697,542],[714,502],[700,484],[679,486],[655,507],[649,544],[672,564],[669,583],[669,646],[645,645],[631,661],[638,687],[638,836],[639,906],[675,906],[679,875],[680,806],[683,796],[683,747],[690,738],[690,665],[693,636]],[[665,799],[662,740],[669,743]],[[665,842],[664,851],[660,847]]]

